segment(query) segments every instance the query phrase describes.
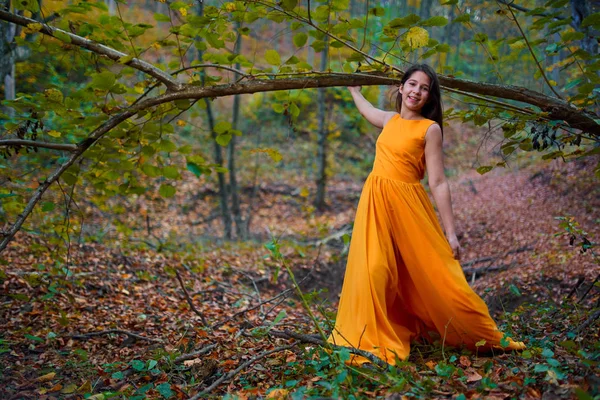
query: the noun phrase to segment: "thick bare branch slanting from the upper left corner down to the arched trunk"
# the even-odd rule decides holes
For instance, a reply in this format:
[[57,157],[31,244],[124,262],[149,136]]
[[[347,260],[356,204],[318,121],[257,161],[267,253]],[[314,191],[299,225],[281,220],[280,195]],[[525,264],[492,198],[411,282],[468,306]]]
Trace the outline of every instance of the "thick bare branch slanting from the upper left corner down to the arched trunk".
[[[61,37],[68,36],[70,43],[76,46],[79,46],[83,49],[90,50],[96,54],[100,54],[110,58],[113,61],[119,61],[119,59],[123,57],[127,57],[128,55],[125,53],[121,53],[115,49],[112,49],[108,46],[105,46],[100,43],[96,43],[92,40],[86,39],[84,37],[74,35],[71,32],[63,31],[62,29],[53,28],[45,23],[41,23],[31,18],[23,17],[20,15],[12,14],[3,10],[0,10],[0,20],[12,22],[13,24],[20,25],[26,27],[30,24],[41,24],[42,29],[40,32],[44,35],[56,37],[56,34],[59,33]],[[57,38],[59,39],[59,38]],[[61,40],[61,39],[59,39]],[[135,68],[139,71],[145,72],[148,75],[156,78],[160,82],[164,83],[169,90],[177,91],[180,90],[183,86],[181,83],[177,82],[176,79],[171,77],[168,73],[161,70],[160,68],[155,67],[154,65],[147,63],[146,61],[142,61],[138,58],[133,58],[128,62],[123,63],[124,65],[128,65],[132,68]]]

